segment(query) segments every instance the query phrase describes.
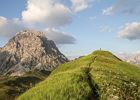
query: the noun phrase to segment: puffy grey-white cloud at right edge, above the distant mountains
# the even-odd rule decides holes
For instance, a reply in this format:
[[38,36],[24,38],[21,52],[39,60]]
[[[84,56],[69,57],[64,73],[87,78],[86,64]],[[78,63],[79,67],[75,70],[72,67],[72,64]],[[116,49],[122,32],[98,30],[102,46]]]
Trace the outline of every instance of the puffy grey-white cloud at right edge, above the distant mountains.
[[140,22],[126,24],[122,30],[118,32],[119,37],[129,40],[140,39]]

